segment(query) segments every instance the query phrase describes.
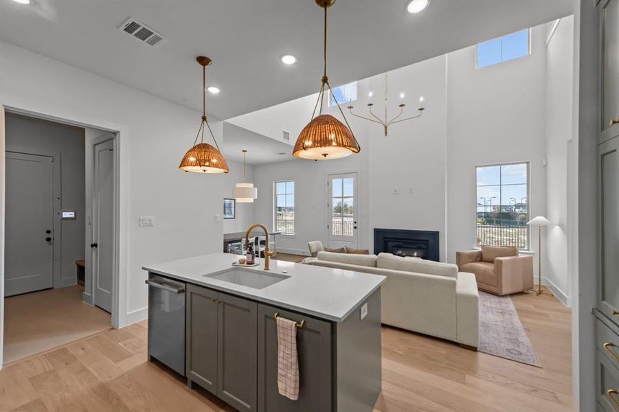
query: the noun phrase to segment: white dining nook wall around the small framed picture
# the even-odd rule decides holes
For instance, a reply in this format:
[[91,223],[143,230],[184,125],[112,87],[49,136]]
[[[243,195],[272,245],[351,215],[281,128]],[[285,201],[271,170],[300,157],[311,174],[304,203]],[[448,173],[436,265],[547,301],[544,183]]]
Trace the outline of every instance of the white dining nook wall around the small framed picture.
[[[236,161],[227,161],[230,172],[222,176],[223,179],[223,197],[232,198],[232,192],[236,183],[243,182],[243,163]],[[254,166],[247,165],[247,183],[254,183]],[[258,191],[258,198],[262,193]],[[268,196],[268,194],[267,194]],[[223,199],[222,199],[223,213]],[[245,231],[249,225],[254,223],[255,203],[238,203],[236,202],[236,217],[234,219],[223,220],[223,233],[233,233]]]

